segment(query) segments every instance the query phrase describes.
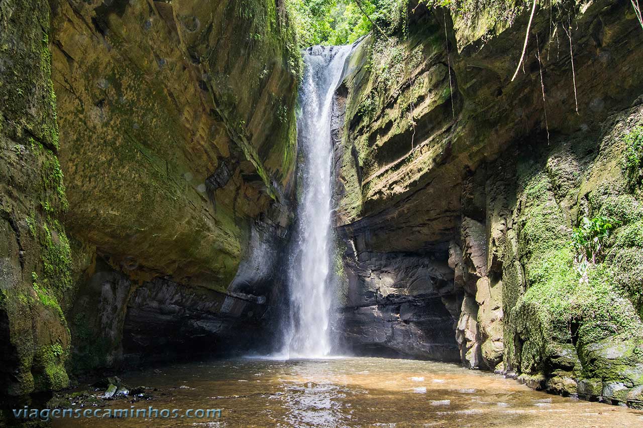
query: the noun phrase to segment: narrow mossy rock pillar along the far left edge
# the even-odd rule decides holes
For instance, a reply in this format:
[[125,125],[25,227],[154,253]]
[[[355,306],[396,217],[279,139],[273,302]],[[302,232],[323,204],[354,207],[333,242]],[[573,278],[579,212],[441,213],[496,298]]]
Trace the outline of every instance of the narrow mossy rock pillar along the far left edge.
[[0,395],[66,388],[71,254],[49,6],[0,5]]

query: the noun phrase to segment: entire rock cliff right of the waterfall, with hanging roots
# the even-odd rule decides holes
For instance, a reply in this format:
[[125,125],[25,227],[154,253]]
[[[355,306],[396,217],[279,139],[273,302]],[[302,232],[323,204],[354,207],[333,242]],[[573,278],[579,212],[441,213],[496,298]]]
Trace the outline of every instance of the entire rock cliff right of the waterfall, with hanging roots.
[[[351,58],[341,334],[640,406],[640,175],[623,165],[642,138],[641,25],[628,2],[563,1],[538,3],[527,31],[531,4],[496,3],[411,4]],[[583,217],[614,223],[586,265]]]

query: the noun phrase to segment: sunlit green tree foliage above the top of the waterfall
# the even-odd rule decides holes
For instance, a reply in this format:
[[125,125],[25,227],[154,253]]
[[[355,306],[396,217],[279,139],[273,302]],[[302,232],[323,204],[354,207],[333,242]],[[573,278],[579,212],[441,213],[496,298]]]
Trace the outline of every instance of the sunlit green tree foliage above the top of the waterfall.
[[287,0],[300,48],[316,44],[349,44],[366,35],[371,21],[390,30],[401,16],[404,0]]

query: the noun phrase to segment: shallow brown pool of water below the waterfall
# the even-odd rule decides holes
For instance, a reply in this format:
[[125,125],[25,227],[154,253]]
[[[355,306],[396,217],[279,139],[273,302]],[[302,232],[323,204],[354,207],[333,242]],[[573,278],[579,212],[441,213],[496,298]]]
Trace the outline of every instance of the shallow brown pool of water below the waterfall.
[[[242,359],[168,366],[160,373],[133,372],[121,378],[159,391],[154,400],[112,402],[110,407],[179,409],[179,417],[65,419],[53,426],[643,426],[643,411],[548,395],[499,375],[440,362]],[[222,409],[222,415],[187,420],[186,409]]]

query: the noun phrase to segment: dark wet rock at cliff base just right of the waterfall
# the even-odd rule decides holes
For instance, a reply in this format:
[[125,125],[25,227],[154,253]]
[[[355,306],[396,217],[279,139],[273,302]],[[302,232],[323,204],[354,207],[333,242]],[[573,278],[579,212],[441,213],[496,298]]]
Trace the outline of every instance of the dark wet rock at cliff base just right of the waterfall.
[[457,361],[451,281],[443,260],[361,253],[343,283],[340,340],[358,355]]

